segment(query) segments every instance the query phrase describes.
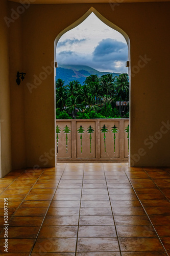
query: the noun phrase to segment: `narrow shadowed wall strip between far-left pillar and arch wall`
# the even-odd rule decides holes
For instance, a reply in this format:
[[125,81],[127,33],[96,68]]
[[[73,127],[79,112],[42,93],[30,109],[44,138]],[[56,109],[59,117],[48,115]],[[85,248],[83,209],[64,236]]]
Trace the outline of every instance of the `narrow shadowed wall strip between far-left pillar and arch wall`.
[[[9,6],[9,17],[13,19],[14,11],[19,4]],[[15,14],[14,22],[9,23],[9,51],[10,51],[10,93],[11,93],[11,151],[12,169],[27,167],[25,141],[25,112],[24,88],[25,80],[19,86],[16,83],[17,72],[25,72],[23,65],[24,52],[22,51],[22,17],[24,14]],[[26,117],[27,118],[27,117]]]

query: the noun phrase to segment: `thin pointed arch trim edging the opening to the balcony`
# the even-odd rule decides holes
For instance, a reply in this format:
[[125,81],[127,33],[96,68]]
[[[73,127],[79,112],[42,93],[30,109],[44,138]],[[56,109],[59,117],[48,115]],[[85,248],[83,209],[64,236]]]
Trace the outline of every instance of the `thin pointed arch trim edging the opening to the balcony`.
[[[105,23],[107,26],[109,26],[110,28],[118,31],[120,34],[122,34],[125,37],[125,40],[127,42],[128,45],[128,61],[130,62],[130,38],[127,35],[127,33],[122,30],[121,28],[119,28],[118,26],[116,26],[115,24],[113,24],[112,22],[110,22],[107,18],[105,18],[102,14],[100,14],[98,11],[96,11],[93,7],[90,7],[89,10],[83,15],[81,16],[79,19],[76,20],[76,22],[72,23],[71,25],[69,25],[67,28],[65,28],[63,31],[61,31],[58,36],[56,37],[55,41],[54,41],[54,61],[55,63],[57,62],[57,43],[60,39],[60,37],[65,34],[67,31],[74,29],[75,27],[77,27],[78,25],[80,25],[82,22],[84,22],[84,20],[91,14],[94,13],[103,23]],[[129,65],[128,68],[128,73],[129,73],[129,88],[131,90],[131,67]],[[56,76],[56,70],[55,70],[55,76]],[[55,80],[55,77],[54,77]],[[55,81],[56,83],[56,81]],[[55,87],[56,88],[56,87]],[[129,102],[131,102],[130,99],[130,94],[129,94]],[[129,111],[131,112],[131,111]],[[56,94],[55,94],[55,117],[56,117]],[[129,116],[130,119],[130,116]],[[55,118],[56,120],[56,118]],[[131,133],[131,124],[129,122],[129,128],[130,128],[130,133]],[[55,131],[56,131],[56,121],[55,121]],[[56,137],[56,134],[55,134]],[[131,137],[131,136],[130,136]],[[129,139],[129,166],[130,166],[130,150],[131,150],[131,143],[130,143],[130,139]],[[56,145],[55,145],[55,150],[56,150]]]

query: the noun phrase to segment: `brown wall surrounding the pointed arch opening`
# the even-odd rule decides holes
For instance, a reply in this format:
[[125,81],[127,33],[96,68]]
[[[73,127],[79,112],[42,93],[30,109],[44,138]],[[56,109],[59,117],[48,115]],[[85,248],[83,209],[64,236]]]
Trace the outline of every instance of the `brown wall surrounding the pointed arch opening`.
[[[13,3],[13,5],[16,4]],[[151,144],[144,145],[144,141],[150,135],[154,136],[160,131],[161,122],[166,123],[169,119],[169,3],[118,4],[118,6],[109,4],[32,5],[22,14],[22,34],[19,38],[22,38],[23,47],[22,72],[27,73],[22,83],[25,103],[22,110],[24,108],[26,164],[27,166],[55,165],[55,156],[50,154],[55,147],[54,74],[52,72],[46,79],[40,79],[39,85],[35,83],[34,78],[42,75],[43,67],[51,66],[54,60],[56,36],[80,18],[91,6],[123,29],[130,38],[131,70],[133,71],[131,156],[136,157],[132,164],[135,166],[170,165],[169,131],[156,143],[153,142],[151,149],[149,149]],[[13,33],[10,44],[12,45],[15,40],[17,39]],[[151,59],[145,65],[139,61],[144,56]],[[14,55],[12,61],[15,61]],[[11,65],[11,72],[16,71],[16,67],[14,71]],[[31,84],[29,87],[32,87],[32,93],[28,89],[28,83]],[[11,87],[14,84],[15,81],[11,81]],[[21,106],[22,93],[18,92],[18,95]],[[11,109],[13,107],[14,102]],[[19,116],[23,117],[23,112],[20,111]],[[15,120],[12,120],[12,125],[14,122]],[[19,125],[19,122],[15,124],[15,131]],[[20,142],[23,143],[23,141],[22,137]],[[15,147],[16,141],[13,141],[12,148]],[[17,154],[22,153],[23,148],[22,145]],[[140,148],[143,148],[143,151]],[[14,160],[13,164],[17,167],[19,161]]]

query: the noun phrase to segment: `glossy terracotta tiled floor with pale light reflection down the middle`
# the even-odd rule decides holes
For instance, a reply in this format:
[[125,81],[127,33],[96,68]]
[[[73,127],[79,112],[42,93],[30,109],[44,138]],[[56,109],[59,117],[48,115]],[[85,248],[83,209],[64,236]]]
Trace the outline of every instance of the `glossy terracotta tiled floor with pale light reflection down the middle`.
[[170,255],[170,168],[59,163],[11,172],[0,193],[2,256]]

